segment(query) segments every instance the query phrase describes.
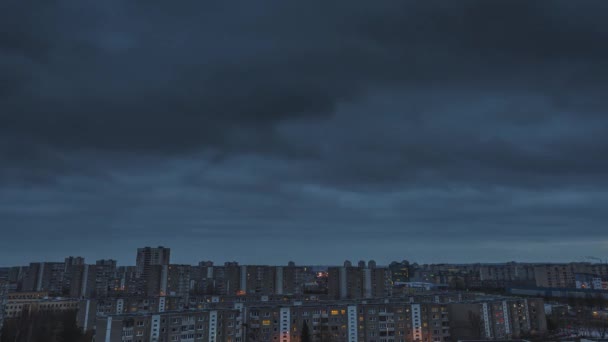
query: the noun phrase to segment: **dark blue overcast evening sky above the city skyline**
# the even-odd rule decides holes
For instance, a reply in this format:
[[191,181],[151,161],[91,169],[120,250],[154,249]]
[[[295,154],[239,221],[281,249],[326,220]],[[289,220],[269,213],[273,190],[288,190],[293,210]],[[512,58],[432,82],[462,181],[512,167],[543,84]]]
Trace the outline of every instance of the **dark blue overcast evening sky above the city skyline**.
[[608,258],[608,2],[0,2],[0,266]]

